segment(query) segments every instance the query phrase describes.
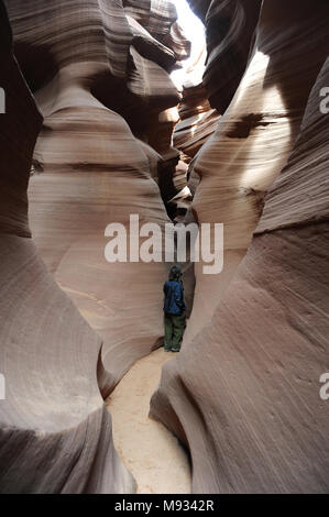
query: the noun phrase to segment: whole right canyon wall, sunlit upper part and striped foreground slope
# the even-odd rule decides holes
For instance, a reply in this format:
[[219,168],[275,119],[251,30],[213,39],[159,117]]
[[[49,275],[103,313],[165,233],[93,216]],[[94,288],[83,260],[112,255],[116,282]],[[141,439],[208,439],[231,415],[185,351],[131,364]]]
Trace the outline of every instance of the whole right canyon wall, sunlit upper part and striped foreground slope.
[[195,163],[199,220],[226,223],[229,251],[219,282],[197,273],[194,328],[151,406],[188,446],[194,492],[329,490],[327,7],[263,2],[244,77]]

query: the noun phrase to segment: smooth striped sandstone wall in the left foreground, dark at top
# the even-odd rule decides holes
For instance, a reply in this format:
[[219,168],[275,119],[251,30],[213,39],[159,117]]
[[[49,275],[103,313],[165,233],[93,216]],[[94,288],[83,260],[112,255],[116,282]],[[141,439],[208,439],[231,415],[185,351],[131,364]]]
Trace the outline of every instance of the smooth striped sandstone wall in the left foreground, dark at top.
[[42,116],[11,46],[0,1],[0,492],[130,493],[98,386],[101,339],[31,239],[26,187]]

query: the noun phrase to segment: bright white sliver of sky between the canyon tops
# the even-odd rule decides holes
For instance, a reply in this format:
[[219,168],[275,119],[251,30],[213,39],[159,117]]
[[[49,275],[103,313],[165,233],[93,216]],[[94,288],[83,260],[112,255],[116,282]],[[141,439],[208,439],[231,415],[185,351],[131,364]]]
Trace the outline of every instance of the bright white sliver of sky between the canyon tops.
[[191,42],[190,57],[183,62],[184,67],[172,74],[172,79],[180,90],[186,78],[186,72],[195,64],[206,46],[205,26],[199,18],[191,11],[187,0],[173,0],[176,7],[177,22],[184,29],[188,40]]

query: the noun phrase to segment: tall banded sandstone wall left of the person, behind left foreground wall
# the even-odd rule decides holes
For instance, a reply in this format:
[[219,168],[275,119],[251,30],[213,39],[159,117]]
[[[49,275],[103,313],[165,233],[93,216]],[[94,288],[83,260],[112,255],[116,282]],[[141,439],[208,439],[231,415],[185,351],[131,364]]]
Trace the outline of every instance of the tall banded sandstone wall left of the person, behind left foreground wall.
[[140,224],[169,222],[158,188],[178,162],[171,109],[179,95],[169,73],[189,55],[189,42],[166,0],[7,6],[17,57],[44,116],[29,190],[32,234],[103,341],[110,393],[158,344],[167,266],[107,262],[105,230],[117,222],[129,231],[130,215]]

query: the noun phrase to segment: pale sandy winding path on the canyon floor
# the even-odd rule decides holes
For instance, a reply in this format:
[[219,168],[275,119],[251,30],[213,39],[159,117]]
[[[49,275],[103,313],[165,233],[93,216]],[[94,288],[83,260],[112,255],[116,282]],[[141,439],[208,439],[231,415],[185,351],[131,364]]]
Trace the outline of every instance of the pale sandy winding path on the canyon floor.
[[138,483],[138,494],[190,492],[186,452],[162,424],[149,418],[150,399],[157,388],[161,369],[173,356],[162,348],[141,359],[107,399],[114,447]]

